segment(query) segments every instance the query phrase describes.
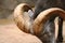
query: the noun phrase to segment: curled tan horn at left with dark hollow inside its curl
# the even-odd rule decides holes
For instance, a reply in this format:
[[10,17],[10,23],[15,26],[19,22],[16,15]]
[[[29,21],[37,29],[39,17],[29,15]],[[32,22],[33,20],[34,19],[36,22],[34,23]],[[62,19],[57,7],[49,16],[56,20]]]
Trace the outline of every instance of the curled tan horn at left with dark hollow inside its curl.
[[14,20],[18,28],[25,32],[29,32],[28,29],[30,28],[30,17],[28,14],[24,14],[24,12],[28,12],[28,10],[31,9],[26,3],[18,4],[14,10]]

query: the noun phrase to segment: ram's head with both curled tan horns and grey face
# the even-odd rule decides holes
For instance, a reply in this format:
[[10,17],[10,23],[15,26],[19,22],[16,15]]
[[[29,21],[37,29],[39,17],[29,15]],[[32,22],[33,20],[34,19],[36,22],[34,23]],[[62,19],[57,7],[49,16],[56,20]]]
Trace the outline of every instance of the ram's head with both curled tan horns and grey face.
[[17,27],[25,31],[37,35],[43,43],[55,43],[54,39],[54,18],[60,16],[65,19],[65,11],[58,8],[51,8],[42,11],[32,19],[29,15],[24,15],[24,12],[31,10],[28,4],[22,3],[14,10],[14,20]]

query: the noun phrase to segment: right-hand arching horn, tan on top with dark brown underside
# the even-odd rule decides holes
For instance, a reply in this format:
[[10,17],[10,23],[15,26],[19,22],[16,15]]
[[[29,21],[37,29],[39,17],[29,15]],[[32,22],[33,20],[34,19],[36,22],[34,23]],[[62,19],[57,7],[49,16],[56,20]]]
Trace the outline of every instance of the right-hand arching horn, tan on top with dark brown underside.
[[56,16],[61,16],[63,19],[65,19],[65,11],[58,8],[52,8],[48,9],[43,12],[41,12],[37,18],[34,22],[34,32],[35,34],[38,34],[42,31],[42,26],[44,23],[51,17],[54,16],[53,14],[56,14]]

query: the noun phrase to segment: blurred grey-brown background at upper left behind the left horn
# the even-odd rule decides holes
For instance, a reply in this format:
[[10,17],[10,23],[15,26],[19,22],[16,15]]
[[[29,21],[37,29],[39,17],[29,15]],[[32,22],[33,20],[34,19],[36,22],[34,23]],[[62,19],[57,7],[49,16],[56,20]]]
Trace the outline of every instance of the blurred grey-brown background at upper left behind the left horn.
[[0,0],[0,18],[12,18],[12,12],[20,3],[28,3],[35,6],[37,0]]

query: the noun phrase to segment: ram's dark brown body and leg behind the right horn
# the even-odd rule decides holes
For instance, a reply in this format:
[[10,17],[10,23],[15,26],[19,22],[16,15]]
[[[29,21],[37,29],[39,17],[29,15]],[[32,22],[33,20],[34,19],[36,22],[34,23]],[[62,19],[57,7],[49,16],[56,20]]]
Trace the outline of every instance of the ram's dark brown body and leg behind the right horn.
[[[38,0],[35,6],[35,13],[32,18],[35,19],[40,14],[40,12],[51,8],[60,8],[65,10],[65,0]],[[54,25],[54,22],[53,22],[53,25]],[[63,42],[63,18],[61,18],[60,16],[58,16],[57,42]]]

